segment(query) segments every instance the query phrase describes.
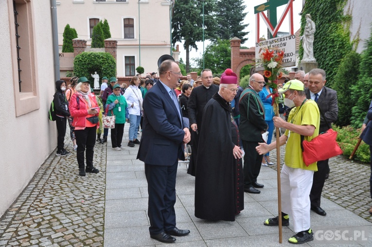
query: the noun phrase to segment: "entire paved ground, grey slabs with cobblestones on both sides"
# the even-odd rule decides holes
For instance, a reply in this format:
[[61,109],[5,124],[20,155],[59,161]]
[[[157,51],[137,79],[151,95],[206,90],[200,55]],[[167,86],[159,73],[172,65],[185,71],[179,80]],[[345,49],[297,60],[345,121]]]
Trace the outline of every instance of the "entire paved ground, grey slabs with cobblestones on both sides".
[[[127,137],[128,125],[125,125],[124,139]],[[71,151],[69,128],[66,133],[65,144],[68,146],[67,149]],[[126,145],[125,140],[123,140],[123,145]],[[110,149],[110,144],[107,146],[109,146],[109,150],[107,150],[106,144],[97,143],[95,145],[94,164],[100,173],[87,174],[85,177],[78,176],[75,152],[71,151],[72,154],[68,157],[57,157],[54,150],[18,199],[0,218],[0,247],[100,247],[104,244],[111,247],[115,246],[116,238],[122,237],[128,240],[130,236],[133,236],[132,234],[146,243],[132,246],[158,245],[156,241],[148,242],[150,241],[147,235],[148,219],[145,213],[147,188],[142,162],[135,159],[137,148],[126,147],[126,150],[120,151],[125,155],[125,160],[120,160],[122,158],[116,155],[116,151]],[[272,161],[276,159],[275,151],[270,153],[270,157]],[[282,163],[283,158],[284,148],[282,147]],[[108,162],[110,162],[111,170],[106,173]],[[322,217],[312,213],[312,224],[314,220],[314,225],[318,223],[318,225],[324,226],[324,219],[327,224],[335,226],[339,226],[342,222],[345,222],[346,225],[348,219],[353,221],[353,214],[345,214],[345,210],[342,208],[372,222],[372,216],[367,212],[371,206],[369,165],[352,162],[346,157],[339,156],[330,159],[330,167],[330,178],[326,180],[322,194],[325,197],[322,205],[329,215]],[[177,222],[180,223],[180,226],[184,225],[193,229],[196,234],[199,232],[200,235],[185,237],[184,241],[190,241],[192,238],[191,242],[175,245],[236,246],[236,243],[240,243],[240,246],[277,246],[273,244],[276,243],[277,229],[267,229],[262,224],[266,216],[276,213],[275,204],[271,202],[276,197],[276,179],[275,175],[272,176],[273,169],[275,170],[275,166],[262,167],[260,176],[261,179],[266,179],[266,189],[260,195],[246,194],[245,210],[237,218],[237,221],[214,224],[200,221],[193,216],[193,177],[186,175],[184,167],[179,167]],[[110,184],[106,183],[106,176],[111,181]],[[133,186],[136,188],[124,186],[116,189],[116,187],[122,186],[118,183],[123,184],[125,180],[136,180],[140,183]],[[124,194],[124,192],[128,192],[128,194]],[[122,197],[115,197],[115,194],[120,194]],[[331,201],[342,208],[332,206]],[[116,213],[118,208],[128,207],[123,202],[128,202],[129,206],[136,210]],[[143,211],[138,211],[139,208]],[[347,218],[337,222],[328,222],[340,217],[337,215],[347,215]],[[193,224],[189,221],[190,217]],[[143,222],[139,221],[140,218],[143,218]],[[105,229],[106,224],[110,225],[107,229]],[[244,229],[243,231],[241,227]],[[265,235],[265,238],[259,235],[267,230],[270,231],[270,234]],[[285,244],[286,238],[293,234],[292,230],[288,227],[283,228],[283,245],[288,245]],[[144,237],[139,236],[138,232]],[[242,237],[247,233],[250,235],[250,239]],[[206,234],[209,234],[210,239],[205,238]],[[180,239],[180,241],[183,240]],[[128,243],[120,244],[119,242],[117,246],[130,246]],[[371,245],[364,244],[363,246]],[[354,245],[351,244],[351,246]]]

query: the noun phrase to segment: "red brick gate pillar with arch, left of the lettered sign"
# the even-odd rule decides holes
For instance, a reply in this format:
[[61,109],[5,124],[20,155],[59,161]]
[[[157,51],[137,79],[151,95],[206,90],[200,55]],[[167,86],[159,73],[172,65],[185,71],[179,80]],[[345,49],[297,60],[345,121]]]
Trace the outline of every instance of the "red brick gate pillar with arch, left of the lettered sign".
[[240,70],[248,65],[255,65],[255,49],[240,49],[240,42],[242,40],[237,37],[233,37],[230,40],[231,47],[231,70],[238,76],[238,84],[240,77]]

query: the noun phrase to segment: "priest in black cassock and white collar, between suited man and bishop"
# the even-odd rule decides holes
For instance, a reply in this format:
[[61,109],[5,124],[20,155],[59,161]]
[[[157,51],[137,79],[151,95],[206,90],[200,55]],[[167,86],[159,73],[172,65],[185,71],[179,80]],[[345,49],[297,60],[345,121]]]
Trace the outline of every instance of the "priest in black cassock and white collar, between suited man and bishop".
[[200,75],[203,85],[193,89],[187,103],[190,128],[193,131],[193,146],[187,173],[192,176],[195,176],[196,171],[197,145],[199,143],[199,132],[197,130],[201,126],[204,106],[218,92],[218,86],[213,84],[213,74],[210,69],[202,70]]

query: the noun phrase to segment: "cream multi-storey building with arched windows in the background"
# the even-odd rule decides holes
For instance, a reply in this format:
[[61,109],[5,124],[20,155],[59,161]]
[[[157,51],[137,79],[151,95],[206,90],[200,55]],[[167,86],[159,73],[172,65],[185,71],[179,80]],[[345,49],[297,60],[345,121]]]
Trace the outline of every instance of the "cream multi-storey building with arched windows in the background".
[[138,66],[157,71],[159,57],[171,53],[171,10],[171,0],[57,1],[59,52],[67,24],[89,48],[93,27],[106,19],[111,38],[118,41],[116,76],[133,76]]

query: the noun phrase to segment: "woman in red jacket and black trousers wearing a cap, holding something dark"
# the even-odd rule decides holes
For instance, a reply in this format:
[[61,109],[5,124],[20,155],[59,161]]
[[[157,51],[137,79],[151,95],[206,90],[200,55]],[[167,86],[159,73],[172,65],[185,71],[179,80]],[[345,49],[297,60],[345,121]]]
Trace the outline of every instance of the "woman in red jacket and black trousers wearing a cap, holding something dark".
[[[75,128],[79,175],[85,176],[86,173],[99,173],[99,170],[93,166],[93,149],[96,143],[96,130],[99,128],[100,109],[94,94],[90,92],[89,81],[86,77],[79,78],[75,89],[76,93],[71,96],[70,100],[70,113],[73,117],[72,126]],[[84,164],[85,151],[87,167]]]

